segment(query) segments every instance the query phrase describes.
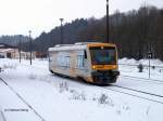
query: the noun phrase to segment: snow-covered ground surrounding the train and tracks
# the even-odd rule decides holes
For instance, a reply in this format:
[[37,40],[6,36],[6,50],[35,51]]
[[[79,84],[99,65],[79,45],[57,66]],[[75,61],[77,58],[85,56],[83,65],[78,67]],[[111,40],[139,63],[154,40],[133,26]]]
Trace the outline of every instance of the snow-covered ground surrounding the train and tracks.
[[[146,60],[142,62],[145,64]],[[127,58],[120,63],[139,64]],[[152,60],[152,64],[163,66],[159,60]],[[57,77],[49,72],[48,60],[35,59],[30,66],[29,60],[22,60],[20,64],[18,59],[0,59],[0,67],[4,69],[0,78],[9,84],[8,86],[0,81],[0,121],[163,120],[162,97]],[[163,95],[163,82],[123,77],[148,78],[147,68],[140,73],[137,67],[120,65],[120,70],[122,76],[116,85]],[[151,78],[163,80],[163,71],[151,69]]]

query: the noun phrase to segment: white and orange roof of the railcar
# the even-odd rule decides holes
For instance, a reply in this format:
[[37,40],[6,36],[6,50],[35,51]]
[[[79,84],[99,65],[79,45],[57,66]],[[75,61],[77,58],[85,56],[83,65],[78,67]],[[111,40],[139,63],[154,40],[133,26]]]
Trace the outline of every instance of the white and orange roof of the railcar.
[[53,48],[49,48],[49,51],[66,51],[66,50],[85,50],[88,46],[96,45],[110,45],[115,46],[115,44],[111,43],[102,43],[102,42],[78,42],[75,44],[57,44]]

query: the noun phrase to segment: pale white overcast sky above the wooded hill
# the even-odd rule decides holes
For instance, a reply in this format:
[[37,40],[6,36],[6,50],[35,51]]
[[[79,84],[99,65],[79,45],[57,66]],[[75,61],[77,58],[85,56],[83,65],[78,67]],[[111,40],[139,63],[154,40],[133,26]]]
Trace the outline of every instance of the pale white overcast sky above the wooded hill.
[[[25,35],[34,38],[75,18],[100,18],[105,14],[105,0],[0,0],[0,36]],[[110,14],[126,12],[142,4],[163,8],[163,0],[110,0]]]

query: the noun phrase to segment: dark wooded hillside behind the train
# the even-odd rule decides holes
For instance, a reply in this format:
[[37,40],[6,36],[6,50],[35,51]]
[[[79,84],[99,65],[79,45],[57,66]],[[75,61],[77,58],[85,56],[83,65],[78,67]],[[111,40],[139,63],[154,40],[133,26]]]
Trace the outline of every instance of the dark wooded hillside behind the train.
[[[106,41],[106,17],[96,19],[93,17],[77,18],[72,23],[65,23],[63,29],[64,44],[75,42],[108,42]],[[126,13],[116,11],[110,15],[110,42],[118,48],[120,57],[146,58],[149,51],[153,58],[163,60],[163,9],[155,6],[141,6]],[[0,42],[12,43],[9,39]],[[27,37],[22,37],[21,49],[29,51]],[[53,28],[50,32],[42,32],[33,39],[33,51],[47,52],[48,48],[61,43],[61,27]],[[18,45],[18,42],[17,42]]]

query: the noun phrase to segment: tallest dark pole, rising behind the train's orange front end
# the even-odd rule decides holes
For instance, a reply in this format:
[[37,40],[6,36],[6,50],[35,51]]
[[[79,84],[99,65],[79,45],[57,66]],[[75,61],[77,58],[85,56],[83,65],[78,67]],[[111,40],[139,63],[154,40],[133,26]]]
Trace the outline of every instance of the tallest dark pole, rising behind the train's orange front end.
[[106,42],[109,43],[110,42],[110,37],[109,37],[109,30],[110,30],[110,27],[109,27],[109,0],[106,0]]

